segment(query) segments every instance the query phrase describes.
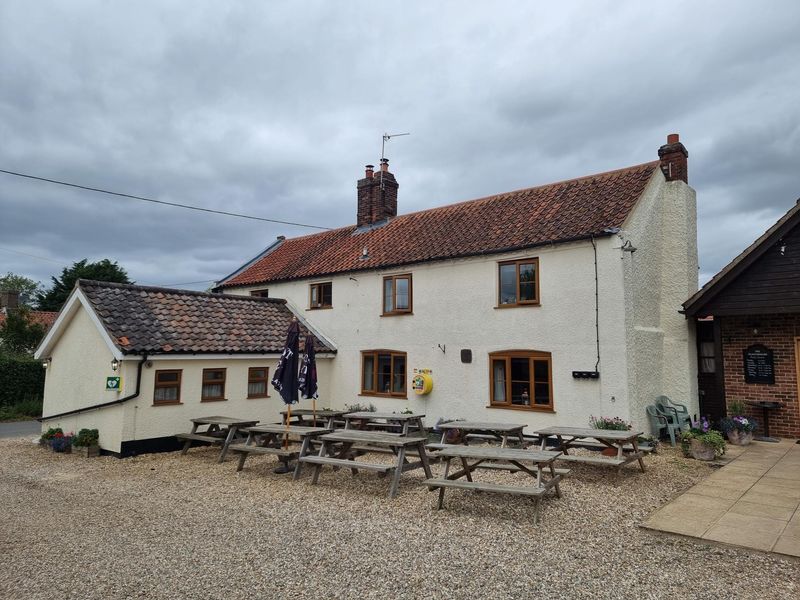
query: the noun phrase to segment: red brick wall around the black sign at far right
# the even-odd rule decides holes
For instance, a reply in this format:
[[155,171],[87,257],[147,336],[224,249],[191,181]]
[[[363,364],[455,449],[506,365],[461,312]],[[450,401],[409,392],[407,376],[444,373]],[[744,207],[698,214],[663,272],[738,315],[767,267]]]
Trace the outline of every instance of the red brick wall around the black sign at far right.
[[[784,407],[770,411],[770,435],[800,437],[800,398],[797,386],[796,339],[800,338],[800,314],[749,317],[716,317],[722,331],[722,354],[725,365],[725,400],[767,400],[782,402]],[[754,333],[754,329],[758,333]],[[775,358],[775,383],[745,383],[743,352],[753,344],[772,350]],[[748,407],[763,433],[760,408]]]

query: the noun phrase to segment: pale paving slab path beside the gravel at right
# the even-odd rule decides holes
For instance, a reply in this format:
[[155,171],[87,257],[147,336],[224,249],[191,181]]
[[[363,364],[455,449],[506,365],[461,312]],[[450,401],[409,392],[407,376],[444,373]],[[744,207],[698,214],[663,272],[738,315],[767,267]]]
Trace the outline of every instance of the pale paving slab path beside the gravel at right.
[[800,557],[800,445],[753,442],[643,527]]

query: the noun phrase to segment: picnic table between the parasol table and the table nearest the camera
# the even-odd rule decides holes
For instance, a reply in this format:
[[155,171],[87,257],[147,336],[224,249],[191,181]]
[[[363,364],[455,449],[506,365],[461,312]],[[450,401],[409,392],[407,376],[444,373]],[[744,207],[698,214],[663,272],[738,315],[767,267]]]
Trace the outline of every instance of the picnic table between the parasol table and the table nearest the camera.
[[[427,437],[422,436],[402,436],[394,433],[386,433],[382,431],[360,431],[357,429],[340,429],[333,433],[326,433],[319,436],[322,442],[319,453],[317,455],[307,455],[299,458],[300,464],[308,463],[315,465],[314,476],[311,480],[312,484],[319,481],[319,473],[322,467],[329,465],[332,467],[345,467],[356,475],[359,469],[368,471],[376,471],[377,473],[385,476],[392,473],[392,483],[389,487],[389,498],[394,498],[397,495],[397,487],[400,484],[400,475],[406,471],[413,469],[423,469],[426,477],[429,479],[433,477],[431,474],[430,464],[428,463],[428,454],[425,451],[425,443],[428,441]],[[359,444],[360,447],[371,448],[388,448],[395,455],[394,464],[386,463],[369,463],[364,461],[357,461],[355,459],[354,445]],[[366,444],[367,446],[361,446]],[[419,453],[419,460],[416,462],[409,462],[406,459],[406,453],[409,449],[415,449]],[[300,468],[296,471],[299,476]]]

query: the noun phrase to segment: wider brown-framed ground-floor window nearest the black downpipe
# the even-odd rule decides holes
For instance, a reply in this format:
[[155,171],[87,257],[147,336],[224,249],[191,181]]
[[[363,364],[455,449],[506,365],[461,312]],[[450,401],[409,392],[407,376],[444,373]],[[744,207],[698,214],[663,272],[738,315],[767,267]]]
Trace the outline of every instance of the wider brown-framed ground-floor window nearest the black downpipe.
[[491,406],[553,409],[549,352],[509,350],[489,355]]

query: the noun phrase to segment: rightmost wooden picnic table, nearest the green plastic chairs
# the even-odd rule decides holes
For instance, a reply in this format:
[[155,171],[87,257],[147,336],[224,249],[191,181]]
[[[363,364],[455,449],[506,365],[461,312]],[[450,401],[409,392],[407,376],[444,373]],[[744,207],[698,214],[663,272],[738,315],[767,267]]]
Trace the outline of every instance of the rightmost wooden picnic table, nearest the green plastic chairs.
[[[555,437],[558,440],[558,449],[563,453],[559,460],[571,460],[593,465],[617,467],[617,471],[635,460],[639,461],[642,472],[645,471],[642,457],[644,452],[639,449],[637,438],[643,435],[641,431],[619,431],[615,429],[590,429],[584,427],[547,427],[536,432],[541,440],[541,449],[547,447],[547,438]],[[575,456],[569,454],[569,449],[576,442],[587,438],[595,439],[608,448],[616,450],[615,457]],[[633,451],[625,451],[625,446],[630,444]]]

